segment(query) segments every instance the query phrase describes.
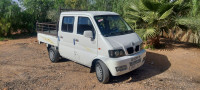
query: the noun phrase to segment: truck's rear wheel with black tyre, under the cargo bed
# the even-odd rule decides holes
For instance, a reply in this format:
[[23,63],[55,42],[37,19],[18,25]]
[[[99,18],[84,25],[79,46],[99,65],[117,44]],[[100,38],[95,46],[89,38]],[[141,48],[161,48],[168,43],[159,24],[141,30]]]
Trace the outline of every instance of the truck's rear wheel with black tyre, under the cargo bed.
[[50,47],[48,48],[48,52],[49,52],[49,59],[51,60],[51,62],[56,63],[59,61],[59,52],[57,49],[55,49],[55,47]]

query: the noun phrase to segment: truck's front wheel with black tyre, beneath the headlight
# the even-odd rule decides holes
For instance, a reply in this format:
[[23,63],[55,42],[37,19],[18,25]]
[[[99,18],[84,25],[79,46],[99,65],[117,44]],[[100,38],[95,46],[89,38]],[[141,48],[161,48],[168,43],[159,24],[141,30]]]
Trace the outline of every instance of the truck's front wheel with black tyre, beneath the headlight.
[[96,77],[99,82],[105,84],[110,80],[110,71],[102,61],[97,61],[95,64]]

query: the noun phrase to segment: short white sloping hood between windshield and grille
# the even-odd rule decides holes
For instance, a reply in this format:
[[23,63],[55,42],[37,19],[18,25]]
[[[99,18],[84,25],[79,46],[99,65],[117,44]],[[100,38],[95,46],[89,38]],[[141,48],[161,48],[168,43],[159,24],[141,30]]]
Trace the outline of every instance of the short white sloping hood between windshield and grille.
[[106,39],[114,49],[125,49],[142,43],[141,38],[136,33],[106,37]]

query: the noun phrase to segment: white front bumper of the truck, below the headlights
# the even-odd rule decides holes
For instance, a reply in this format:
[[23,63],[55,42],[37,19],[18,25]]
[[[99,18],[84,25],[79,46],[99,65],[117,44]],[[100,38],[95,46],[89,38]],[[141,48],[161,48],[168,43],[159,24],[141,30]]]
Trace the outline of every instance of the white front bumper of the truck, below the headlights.
[[[140,60],[137,60],[138,57]],[[142,66],[145,62],[145,57],[146,51],[141,50],[134,55],[124,56],[120,58],[109,58],[106,60],[106,65],[113,76],[119,76]]]

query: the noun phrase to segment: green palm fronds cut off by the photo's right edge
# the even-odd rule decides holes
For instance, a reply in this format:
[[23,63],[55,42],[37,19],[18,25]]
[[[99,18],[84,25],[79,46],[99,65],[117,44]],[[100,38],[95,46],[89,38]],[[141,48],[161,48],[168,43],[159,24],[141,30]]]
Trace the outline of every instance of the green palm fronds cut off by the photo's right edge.
[[[186,38],[192,38],[193,43],[200,44],[200,1],[191,0],[185,2],[189,6],[189,13],[182,15],[182,17],[176,18],[178,25],[184,25],[192,30],[192,35],[188,35]],[[185,6],[183,4],[182,6]]]

